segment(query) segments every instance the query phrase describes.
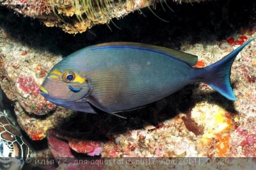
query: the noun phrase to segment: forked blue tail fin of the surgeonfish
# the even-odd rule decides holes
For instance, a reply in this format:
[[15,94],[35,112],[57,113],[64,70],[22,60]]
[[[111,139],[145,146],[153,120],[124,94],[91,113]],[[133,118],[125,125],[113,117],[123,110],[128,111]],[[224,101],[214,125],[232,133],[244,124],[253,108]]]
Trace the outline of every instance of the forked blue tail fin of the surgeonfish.
[[227,97],[229,100],[237,100],[230,84],[231,66],[237,54],[253,40],[255,39],[249,40],[248,42],[244,43],[220,61],[205,67],[206,75],[204,76],[205,78],[203,82],[221,93],[221,95],[223,95],[224,97]]

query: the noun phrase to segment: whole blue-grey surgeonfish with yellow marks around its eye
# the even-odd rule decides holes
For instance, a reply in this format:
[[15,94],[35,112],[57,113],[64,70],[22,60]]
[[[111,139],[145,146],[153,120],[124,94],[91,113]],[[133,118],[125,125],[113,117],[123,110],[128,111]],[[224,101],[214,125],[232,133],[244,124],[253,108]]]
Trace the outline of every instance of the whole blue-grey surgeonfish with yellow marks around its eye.
[[193,67],[197,56],[164,47],[131,42],[92,45],[54,65],[39,90],[56,105],[90,113],[138,108],[195,82],[237,100],[230,86],[231,66],[253,40],[204,68]]

